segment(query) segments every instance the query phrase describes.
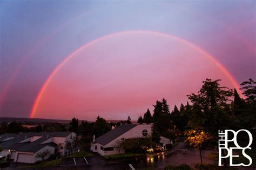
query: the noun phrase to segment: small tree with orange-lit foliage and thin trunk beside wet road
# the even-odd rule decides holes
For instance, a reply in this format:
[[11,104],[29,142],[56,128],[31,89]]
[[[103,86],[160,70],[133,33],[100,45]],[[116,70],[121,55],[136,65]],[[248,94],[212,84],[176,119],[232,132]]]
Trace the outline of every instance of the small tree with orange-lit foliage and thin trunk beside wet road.
[[212,135],[201,130],[187,131],[185,135],[187,135],[186,141],[189,142],[191,146],[199,148],[201,164],[203,164],[201,148],[206,145],[208,141],[211,141],[213,138]]

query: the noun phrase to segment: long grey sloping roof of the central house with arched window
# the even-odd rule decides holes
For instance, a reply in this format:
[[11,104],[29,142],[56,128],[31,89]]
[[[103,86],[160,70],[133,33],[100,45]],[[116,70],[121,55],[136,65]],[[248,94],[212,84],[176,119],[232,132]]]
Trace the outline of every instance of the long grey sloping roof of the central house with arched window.
[[99,143],[102,145],[106,145],[112,140],[120,137],[120,135],[124,134],[127,131],[130,131],[133,127],[137,126],[136,124],[130,124],[130,125],[122,125],[117,126],[113,130],[101,135],[100,137],[96,138],[93,144]]

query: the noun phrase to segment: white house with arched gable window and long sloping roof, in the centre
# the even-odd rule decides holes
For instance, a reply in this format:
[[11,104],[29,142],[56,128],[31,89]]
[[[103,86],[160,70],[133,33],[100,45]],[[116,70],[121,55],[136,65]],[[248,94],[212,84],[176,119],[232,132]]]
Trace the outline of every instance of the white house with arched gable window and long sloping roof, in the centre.
[[101,135],[91,142],[91,151],[100,155],[125,153],[124,149],[117,151],[114,147],[122,138],[144,138],[151,136],[151,124],[125,124]]

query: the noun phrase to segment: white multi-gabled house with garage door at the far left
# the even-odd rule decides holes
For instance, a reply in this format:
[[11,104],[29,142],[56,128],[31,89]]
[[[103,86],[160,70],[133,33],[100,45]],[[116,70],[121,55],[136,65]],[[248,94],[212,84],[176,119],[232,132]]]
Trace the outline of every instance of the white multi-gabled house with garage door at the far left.
[[42,158],[38,157],[38,153],[44,151],[49,152],[48,156],[44,159],[49,158],[51,154],[57,153],[62,157],[75,151],[74,148],[67,147],[73,141],[73,138],[76,137],[76,133],[73,132],[28,132],[12,134],[12,137],[9,138],[6,137],[8,134],[0,136],[5,139],[0,144],[3,148],[0,156],[6,157],[9,155],[9,158],[13,159],[14,162],[33,164],[42,160]]

